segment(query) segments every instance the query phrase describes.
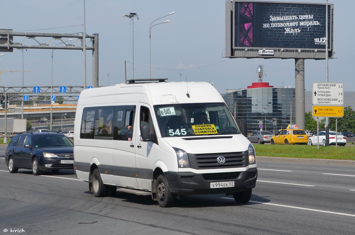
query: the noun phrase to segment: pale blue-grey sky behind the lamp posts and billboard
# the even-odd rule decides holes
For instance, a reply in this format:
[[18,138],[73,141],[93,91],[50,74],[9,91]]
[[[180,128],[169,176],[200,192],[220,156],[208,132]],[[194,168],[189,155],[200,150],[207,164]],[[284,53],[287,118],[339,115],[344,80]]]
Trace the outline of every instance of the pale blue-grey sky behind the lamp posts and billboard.
[[[294,0],[293,2],[306,2]],[[326,3],[326,0],[312,0]],[[336,59],[329,60],[329,82],[343,82],[345,91],[355,91],[354,40],[355,1],[328,1],[334,4],[334,49]],[[149,26],[151,31],[152,78],[170,82],[204,81],[220,92],[246,88],[257,82],[256,70],[264,66],[263,82],[274,87],[295,87],[294,59],[223,58],[225,49],[224,0],[86,0],[86,33],[99,34],[99,86],[125,83],[132,78],[132,22],[123,14],[137,13],[134,18],[134,78],[149,78]],[[83,32],[83,0],[2,0],[1,27],[16,32],[80,33]],[[21,42],[23,37],[17,37]],[[20,40],[20,38],[22,40]],[[43,39],[43,38],[42,38]],[[74,39],[76,40],[76,39]],[[73,41],[74,41],[73,40]],[[49,40],[43,39],[42,43]],[[55,45],[60,41],[52,42]],[[32,40],[29,45],[35,45]],[[1,52],[0,71],[22,70],[22,52]],[[1,54],[0,53],[0,54]],[[92,85],[92,52],[87,51],[87,85]],[[51,84],[51,49],[24,51],[25,86]],[[182,75],[180,75],[180,73]],[[109,76],[107,74],[110,74]],[[22,85],[21,72],[0,74],[0,86]],[[312,82],[326,81],[325,60],[305,60],[305,89]],[[53,85],[83,85],[83,53],[79,50],[55,50]]]

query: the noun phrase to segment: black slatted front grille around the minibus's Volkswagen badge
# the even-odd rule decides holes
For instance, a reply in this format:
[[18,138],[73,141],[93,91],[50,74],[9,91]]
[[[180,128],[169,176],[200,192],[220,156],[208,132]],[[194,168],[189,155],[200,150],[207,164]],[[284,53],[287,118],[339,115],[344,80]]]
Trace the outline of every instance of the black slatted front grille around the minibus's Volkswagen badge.
[[[249,164],[249,158],[246,152],[233,153],[207,153],[192,154],[188,153],[190,168],[192,169],[221,169],[221,168],[239,168],[246,167]],[[218,163],[218,157],[223,156],[225,163]]]

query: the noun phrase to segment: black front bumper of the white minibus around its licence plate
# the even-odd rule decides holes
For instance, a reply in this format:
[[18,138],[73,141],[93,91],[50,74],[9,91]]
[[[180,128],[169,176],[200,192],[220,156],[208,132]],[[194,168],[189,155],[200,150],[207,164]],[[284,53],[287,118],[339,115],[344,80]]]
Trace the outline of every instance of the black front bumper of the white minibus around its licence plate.
[[[197,174],[193,172],[164,172],[164,174],[168,181],[170,192],[173,194],[233,194],[254,188],[257,179],[257,171],[257,168],[250,168],[247,171],[242,172],[206,174]],[[234,181],[234,186],[230,187],[230,182],[232,181]],[[225,184],[225,186],[228,185],[228,187],[212,188],[211,183],[218,183],[218,185]]]

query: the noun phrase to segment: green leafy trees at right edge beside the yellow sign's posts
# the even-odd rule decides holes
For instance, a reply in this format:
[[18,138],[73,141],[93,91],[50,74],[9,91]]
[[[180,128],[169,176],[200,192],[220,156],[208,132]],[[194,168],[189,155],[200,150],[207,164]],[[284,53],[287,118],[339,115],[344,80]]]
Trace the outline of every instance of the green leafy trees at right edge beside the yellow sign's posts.
[[[335,117],[329,118],[329,129],[335,131]],[[355,111],[351,106],[344,107],[344,116],[338,117],[338,132],[355,132]]]

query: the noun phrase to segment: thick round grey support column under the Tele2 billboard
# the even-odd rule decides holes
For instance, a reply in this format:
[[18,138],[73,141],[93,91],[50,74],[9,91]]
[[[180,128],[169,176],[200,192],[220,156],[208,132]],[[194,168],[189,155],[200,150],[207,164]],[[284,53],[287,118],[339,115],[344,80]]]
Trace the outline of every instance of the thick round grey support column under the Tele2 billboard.
[[296,124],[305,130],[305,59],[295,59]]

